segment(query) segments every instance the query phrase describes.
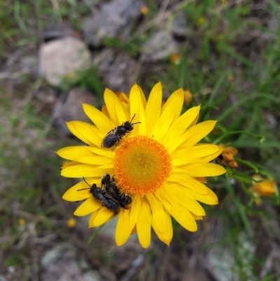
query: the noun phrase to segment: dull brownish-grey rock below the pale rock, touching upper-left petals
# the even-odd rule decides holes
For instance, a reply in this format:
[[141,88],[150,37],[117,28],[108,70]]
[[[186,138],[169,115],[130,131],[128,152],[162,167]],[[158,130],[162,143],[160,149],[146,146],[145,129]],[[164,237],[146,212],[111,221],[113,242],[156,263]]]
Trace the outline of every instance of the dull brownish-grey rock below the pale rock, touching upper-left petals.
[[64,134],[69,135],[70,132],[66,122],[76,120],[89,123],[90,119],[83,111],[83,103],[94,104],[94,97],[87,90],[74,88],[68,93],[62,93],[62,97],[57,101],[52,113],[53,125]]

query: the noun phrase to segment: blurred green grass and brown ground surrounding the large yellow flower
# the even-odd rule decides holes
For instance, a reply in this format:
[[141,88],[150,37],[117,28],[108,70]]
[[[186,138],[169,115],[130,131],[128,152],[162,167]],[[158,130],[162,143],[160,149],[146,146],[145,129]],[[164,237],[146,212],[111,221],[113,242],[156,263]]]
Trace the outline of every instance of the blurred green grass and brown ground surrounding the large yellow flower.
[[[139,17],[129,19],[128,33],[105,34],[94,45],[85,22],[110,3],[0,0],[0,280],[48,280],[42,256],[62,242],[80,251],[97,280],[280,280],[279,3],[146,0]],[[50,85],[38,73],[38,54],[66,36],[60,29],[50,36],[62,24],[85,43],[92,63],[75,78],[69,73]],[[157,48],[147,50],[153,39],[160,41],[161,31],[170,39],[157,47],[165,50],[157,58]],[[174,42],[176,48],[169,48]],[[123,76],[122,56],[130,69]],[[109,80],[116,75],[123,79],[120,88]],[[197,233],[174,223],[171,247],[154,238],[145,251],[134,240],[118,249],[110,234],[88,230],[83,219],[69,222],[77,206],[61,196],[75,181],[60,177],[62,160],[55,151],[80,143],[59,125],[59,111],[73,88],[90,92],[100,107],[105,87],[128,93],[136,82],[148,95],[158,81],[165,97],[177,88],[188,90],[192,100],[184,109],[202,104],[200,121],[218,120],[204,142],[238,149],[238,167],[209,181],[220,203],[205,206]],[[274,181],[271,196],[253,193],[255,173]]]

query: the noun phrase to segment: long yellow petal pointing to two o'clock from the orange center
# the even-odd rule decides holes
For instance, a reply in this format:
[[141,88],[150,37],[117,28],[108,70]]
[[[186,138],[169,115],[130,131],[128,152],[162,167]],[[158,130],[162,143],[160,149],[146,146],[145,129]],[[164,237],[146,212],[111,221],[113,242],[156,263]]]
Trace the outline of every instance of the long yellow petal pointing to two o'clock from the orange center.
[[183,133],[183,135],[170,140],[167,144],[165,144],[165,147],[167,147],[169,153],[172,153],[177,148],[186,149],[193,146],[207,136],[209,132],[213,130],[215,124],[216,121],[205,121],[190,127]]

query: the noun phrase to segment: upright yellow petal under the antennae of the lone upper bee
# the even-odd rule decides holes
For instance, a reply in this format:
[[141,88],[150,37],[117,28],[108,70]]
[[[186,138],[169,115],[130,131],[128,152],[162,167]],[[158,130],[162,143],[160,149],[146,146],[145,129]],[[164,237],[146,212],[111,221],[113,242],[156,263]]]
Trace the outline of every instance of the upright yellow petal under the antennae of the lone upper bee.
[[133,118],[133,123],[141,122],[141,124],[134,125],[132,135],[146,135],[146,116],[141,100],[141,92],[139,86],[134,84],[130,90],[130,119]]

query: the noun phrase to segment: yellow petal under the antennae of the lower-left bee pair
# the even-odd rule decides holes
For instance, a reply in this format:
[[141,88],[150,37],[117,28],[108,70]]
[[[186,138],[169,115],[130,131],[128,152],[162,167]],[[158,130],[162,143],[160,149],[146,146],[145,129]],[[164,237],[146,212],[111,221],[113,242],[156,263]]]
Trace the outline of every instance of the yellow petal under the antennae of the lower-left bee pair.
[[[90,186],[87,184],[94,184],[100,182],[100,177],[98,178],[87,178],[87,183],[85,181],[80,181],[78,184],[75,184],[70,189],[68,189],[64,195],[62,196],[62,199],[70,202],[76,202],[80,200],[85,200],[92,195],[90,194]],[[78,191],[79,189],[84,189],[83,191]]]

